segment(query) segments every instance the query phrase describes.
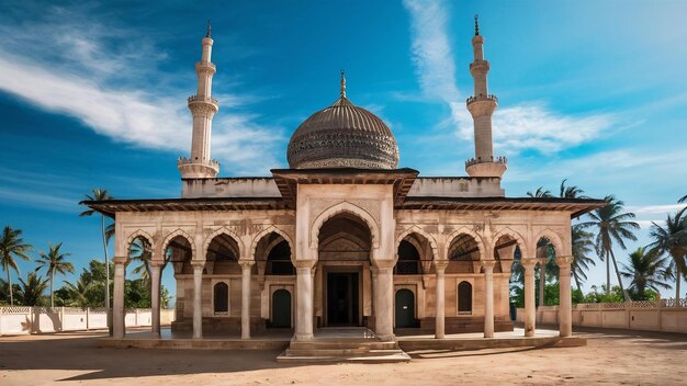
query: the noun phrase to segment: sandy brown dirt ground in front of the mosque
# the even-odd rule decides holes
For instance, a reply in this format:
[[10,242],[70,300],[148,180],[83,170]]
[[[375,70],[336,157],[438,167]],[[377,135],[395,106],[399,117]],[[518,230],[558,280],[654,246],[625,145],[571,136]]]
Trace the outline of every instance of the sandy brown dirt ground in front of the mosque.
[[582,330],[588,345],[410,352],[402,364],[292,365],[278,351],[98,349],[99,333],[0,338],[0,385],[685,385],[687,336]]

